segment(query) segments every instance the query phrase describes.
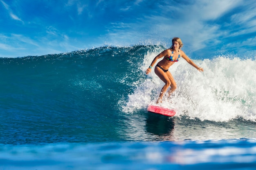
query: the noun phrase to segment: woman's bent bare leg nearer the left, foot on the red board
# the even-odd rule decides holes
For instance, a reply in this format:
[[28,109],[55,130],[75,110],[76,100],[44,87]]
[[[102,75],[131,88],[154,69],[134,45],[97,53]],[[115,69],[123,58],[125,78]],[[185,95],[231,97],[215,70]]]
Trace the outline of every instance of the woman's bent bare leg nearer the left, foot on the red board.
[[[168,87],[171,86],[171,78],[173,78],[173,76],[171,75],[171,73],[169,71],[167,71],[166,73],[159,67],[155,67],[155,74],[165,83],[164,87],[162,88],[160,95],[157,99],[157,103],[162,102],[162,98],[164,93],[167,91]],[[169,76],[171,75],[171,77],[169,78]]]

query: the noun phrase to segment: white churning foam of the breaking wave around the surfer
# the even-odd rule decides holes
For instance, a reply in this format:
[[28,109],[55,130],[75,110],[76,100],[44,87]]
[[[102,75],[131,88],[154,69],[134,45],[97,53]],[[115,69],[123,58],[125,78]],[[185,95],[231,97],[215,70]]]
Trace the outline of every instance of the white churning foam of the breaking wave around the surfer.
[[[158,53],[145,55],[144,72]],[[183,59],[169,68],[177,89],[171,99],[164,98],[162,106],[175,108],[175,116],[184,115],[202,121],[229,121],[238,117],[256,121],[255,60],[216,56],[212,60],[193,61],[203,67],[204,72],[200,73]],[[164,83],[152,70],[128,96],[123,111],[146,110],[148,104],[155,103],[162,86]]]

